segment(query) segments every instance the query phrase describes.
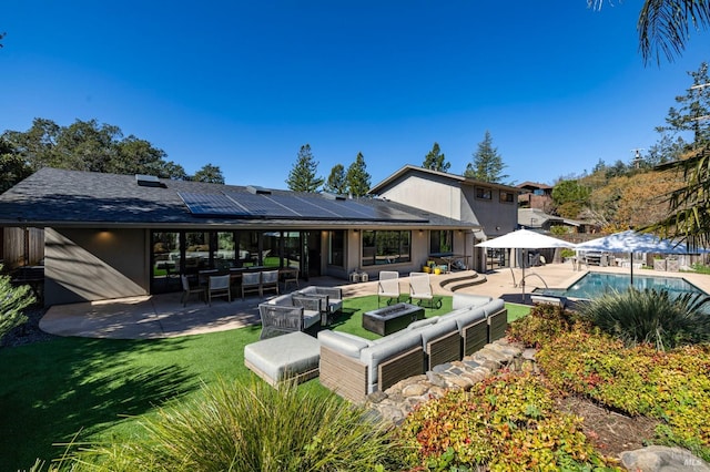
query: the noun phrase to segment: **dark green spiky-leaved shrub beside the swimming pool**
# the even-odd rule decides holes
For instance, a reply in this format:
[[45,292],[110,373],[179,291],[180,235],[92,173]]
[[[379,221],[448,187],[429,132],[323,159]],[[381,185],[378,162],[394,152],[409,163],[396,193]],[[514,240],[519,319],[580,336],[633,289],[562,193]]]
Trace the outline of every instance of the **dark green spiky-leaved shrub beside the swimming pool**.
[[663,350],[710,339],[710,316],[700,310],[709,300],[706,296],[672,297],[668,290],[631,287],[584,305],[580,314],[627,346],[650,342]]

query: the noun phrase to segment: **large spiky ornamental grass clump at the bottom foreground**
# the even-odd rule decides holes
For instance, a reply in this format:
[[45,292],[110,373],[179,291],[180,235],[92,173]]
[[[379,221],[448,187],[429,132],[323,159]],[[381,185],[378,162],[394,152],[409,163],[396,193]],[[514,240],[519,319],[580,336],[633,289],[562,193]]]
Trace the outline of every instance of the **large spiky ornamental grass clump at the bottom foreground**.
[[[295,386],[217,382],[204,398],[162,409],[148,438],[95,445],[73,464],[105,471],[335,471],[397,468],[384,425],[335,394]],[[81,469],[81,468],[79,468]]]

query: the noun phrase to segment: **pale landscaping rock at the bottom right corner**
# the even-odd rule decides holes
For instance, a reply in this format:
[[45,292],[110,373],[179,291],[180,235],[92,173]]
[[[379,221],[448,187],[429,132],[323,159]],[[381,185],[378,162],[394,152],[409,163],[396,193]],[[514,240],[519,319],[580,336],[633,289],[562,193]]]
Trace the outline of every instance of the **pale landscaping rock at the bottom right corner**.
[[710,466],[681,448],[649,445],[621,453],[621,463],[635,472],[710,472]]

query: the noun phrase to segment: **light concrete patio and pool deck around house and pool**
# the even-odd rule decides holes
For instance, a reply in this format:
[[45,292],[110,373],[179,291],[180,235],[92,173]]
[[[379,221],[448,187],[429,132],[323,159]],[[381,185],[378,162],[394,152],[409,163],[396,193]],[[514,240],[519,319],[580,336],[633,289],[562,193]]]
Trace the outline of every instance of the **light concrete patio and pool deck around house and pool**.
[[[621,267],[582,267],[574,270],[571,264],[548,264],[526,269],[526,295],[523,296],[519,283],[519,268],[498,269],[485,274],[486,281],[467,287],[457,293],[486,295],[503,298],[508,302],[530,305],[529,294],[536,288],[566,288],[587,271],[629,274]],[[453,273],[432,276],[432,287],[436,295],[452,295],[440,283],[450,277],[460,277],[466,273]],[[666,273],[648,269],[635,269],[638,276],[682,277],[710,294],[710,275],[691,273]],[[544,280],[544,281],[542,281]],[[400,278],[400,287],[406,290],[407,277]],[[339,286],[345,298],[375,295],[377,283],[346,283],[329,277],[318,277],[304,285]],[[256,296],[242,300],[236,297],[229,302],[220,299],[207,306],[202,301],[180,302],[181,293],[131,297],[116,300],[58,305],[50,307],[40,320],[40,328],[59,336],[79,336],[89,338],[114,339],[155,339],[204,332],[223,331],[260,322],[258,304],[266,300]]]

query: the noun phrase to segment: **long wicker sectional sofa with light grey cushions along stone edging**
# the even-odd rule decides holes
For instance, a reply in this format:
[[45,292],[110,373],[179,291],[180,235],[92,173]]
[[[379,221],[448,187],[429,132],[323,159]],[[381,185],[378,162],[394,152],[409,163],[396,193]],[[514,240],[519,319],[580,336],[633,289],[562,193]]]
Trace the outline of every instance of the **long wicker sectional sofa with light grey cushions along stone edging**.
[[471,355],[501,338],[506,326],[501,299],[454,294],[452,312],[415,321],[374,341],[323,330],[318,332],[321,383],[359,402],[402,379]]

